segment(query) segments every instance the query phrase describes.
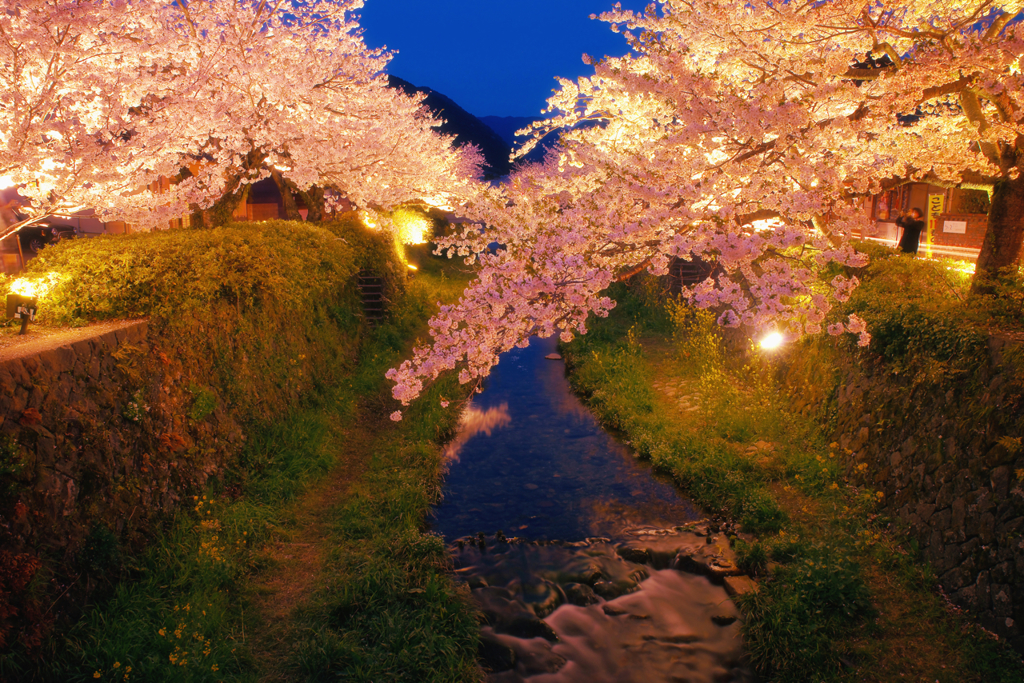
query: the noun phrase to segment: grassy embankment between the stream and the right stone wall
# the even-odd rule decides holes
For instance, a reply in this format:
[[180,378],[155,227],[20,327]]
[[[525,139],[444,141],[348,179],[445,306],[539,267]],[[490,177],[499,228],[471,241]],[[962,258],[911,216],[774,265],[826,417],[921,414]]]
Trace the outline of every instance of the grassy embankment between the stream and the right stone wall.
[[[933,267],[907,260],[881,265],[861,301],[905,304],[872,287],[885,287],[887,267],[919,279]],[[665,301],[649,283],[615,298],[612,315],[567,347],[571,382],[640,457],[742,524],[734,544],[761,580],[740,600],[760,673],[794,682],[1024,680],[1018,655],[948,608],[909,544],[887,530],[874,492],[843,480],[838,446],[790,410],[770,357],[729,353],[713,316]]]

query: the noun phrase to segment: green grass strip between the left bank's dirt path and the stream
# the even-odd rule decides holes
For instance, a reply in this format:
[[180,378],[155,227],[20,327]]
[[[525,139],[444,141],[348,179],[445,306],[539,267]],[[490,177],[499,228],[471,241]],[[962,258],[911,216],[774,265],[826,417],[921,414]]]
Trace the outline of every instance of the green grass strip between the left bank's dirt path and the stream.
[[[428,302],[461,293],[466,273],[445,270],[442,279],[436,267],[421,267],[415,282],[429,282],[429,295],[411,298],[396,321],[397,334],[382,331],[387,343],[364,353],[357,382],[375,382],[401,359],[408,346],[398,342],[421,329],[412,323],[422,319]],[[306,680],[478,677],[478,624],[469,594],[454,583],[441,539],[423,532],[425,514],[439,495],[437,444],[458,423],[453,409],[441,408],[440,396],[464,393],[447,378],[407,409],[402,421],[373,442],[367,471],[331,511],[330,571],[303,610],[305,636],[295,648],[294,666]]]

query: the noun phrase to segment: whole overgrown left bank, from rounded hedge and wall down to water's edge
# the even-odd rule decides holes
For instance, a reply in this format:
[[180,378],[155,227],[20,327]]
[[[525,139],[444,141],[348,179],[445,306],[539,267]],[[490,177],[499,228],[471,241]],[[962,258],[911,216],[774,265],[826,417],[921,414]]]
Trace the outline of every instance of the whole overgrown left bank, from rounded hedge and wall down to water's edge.
[[[44,326],[146,322],[86,344],[95,376],[74,351],[4,376],[0,680],[477,676],[468,597],[422,532],[455,416],[390,422],[383,378],[466,275],[424,252],[407,283],[399,251],[354,219],[279,221],[33,262]],[[375,327],[364,269],[390,302]]]

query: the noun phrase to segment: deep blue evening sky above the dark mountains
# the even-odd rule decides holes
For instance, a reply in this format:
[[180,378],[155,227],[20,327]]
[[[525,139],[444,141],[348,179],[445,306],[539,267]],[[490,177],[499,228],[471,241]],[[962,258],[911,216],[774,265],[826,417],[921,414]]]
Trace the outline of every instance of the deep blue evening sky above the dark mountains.
[[[591,68],[581,57],[629,49],[591,19],[614,0],[367,0],[371,47],[398,54],[388,73],[441,92],[476,116],[538,116],[557,85]],[[622,0],[643,9],[647,0]]]

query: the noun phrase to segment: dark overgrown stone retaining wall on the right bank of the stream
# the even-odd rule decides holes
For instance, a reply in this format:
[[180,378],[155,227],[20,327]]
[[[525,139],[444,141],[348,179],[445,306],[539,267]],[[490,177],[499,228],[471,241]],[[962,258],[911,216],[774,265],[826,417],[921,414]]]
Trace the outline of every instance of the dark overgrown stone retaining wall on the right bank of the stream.
[[971,373],[900,373],[817,340],[781,376],[821,418],[851,483],[884,495],[949,599],[1024,652],[1024,371],[1020,342],[989,339]]

